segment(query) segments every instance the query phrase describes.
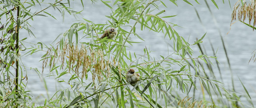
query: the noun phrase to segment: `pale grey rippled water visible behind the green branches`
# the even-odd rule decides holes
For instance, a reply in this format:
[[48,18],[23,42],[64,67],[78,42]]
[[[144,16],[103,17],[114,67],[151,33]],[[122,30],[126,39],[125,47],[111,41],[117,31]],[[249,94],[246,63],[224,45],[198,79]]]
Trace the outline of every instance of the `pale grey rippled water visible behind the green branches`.
[[[216,2],[217,1],[218,0],[216,0]],[[235,1],[230,1],[232,7],[235,4]],[[253,50],[256,49],[255,32],[253,32],[251,28],[240,22],[236,22],[230,27],[232,10],[230,9],[228,0],[225,1],[225,4],[222,3],[222,0],[220,0],[220,2],[217,2],[219,10],[214,6],[214,4],[211,3],[211,1],[208,1],[211,11],[216,18],[217,26],[214,23],[205,2],[203,1],[200,2],[201,5],[196,4],[195,2],[191,2],[197,9],[203,25],[200,24],[193,6],[181,0],[178,1],[178,7],[173,5],[170,1],[166,2],[166,5],[169,8],[165,8],[163,5],[161,5],[159,11],[166,10],[166,12],[162,16],[177,15],[176,17],[172,18],[165,18],[165,20],[183,27],[181,28],[175,26],[174,29],[179,33],[180,36],[183,36],[186,40],[189,40],[189,43],[192,44],[196,40],[196,38],[201,38],[207,32],[205,39],[203,40],[203,45],[205,45],[205,49],[208,55],[212,55],[212,50],[210,48],[208,39],[211,40],[215,51],[218,49],[216,56],[218,57],[220,63],[224,84],[227,88],[230,88],[230,70],[228,68],[226,55],[224,53],[222,42],[220,40],[218,32],[218,28],[220,29],[223,39],[225,41],[228,57],[231,63],[231,68],[234,73],[236,90],[245,94],[245,91],[238,79],[239,76],[243,84],[247,87],[247,90],[253,102],[256,102],[256,63],[251,62],[248,64],[248,61],[251,58],[251,53],[253,52]],[[76,11],[79,12],[80,10],[82,10],[82,5],[80,3],[73,3],[72,5],[74,5],[75,7],[71,6],[71,8],[74,8]],[[45,7],[46,5],[42,4],[42,9],[44,9]],[[116,9],[117,7],[114,8]],[[75,19],[73,15],[69,15],[66,12],[64,23],[62,23],[62,16],[58,12],[58,10],[54,11],[53,8],[49,8],[46,10],[46,12],[53,14],[57,20],[51,17],[34,17],[34,21],[30,20],[29,22],[34,27],[31,30],[33,31],[36,38],[28,38],[27,41],[33,43],[43,42],[46,45],[49,45],[60,33],[68,30],[70,26],[75,23],[75,21],[77,21],[77,19]],[[84,1],[84,10],[81,13],[85,19],[88,19],[94,23],[106,23],[109,19],[106,18],[104,15],[109,15],[110,12],[111,10],[108,9],[108,7],[100,1],[96,4],[91,4],[90,2]],[[149,32],[148,29],[146,29],[145,31],[140,31],[140,25],[137,26],[137,28],[139,29],[137,30],[137,33],[145,40],[145,42],[142,42],[140,44],[133,44],[133,46],[130,46],[130,48],[128,48],[127,50],[131,51],[131,53],[136,51],[136,54],[143,54],[143,49],[146,46],[151,51],[154,51],[152,52],[151,56],[160,59],[161,57],[159,55],[166,56],[168,54],[168,50],[169,53],[173,52],[170,47],[169,49],[167,48],[167,45],[164,41],[169,41],[168,39],[164,39],[163,34]],[[129,31],[129,29],[127,29],[127,31]],[[22,33],[20,39],[29,37],[25,31],[21,32]],[[131,36],[131,38],[133,41],[140,41],[137,37]],[[197,57],[197,55],[200,54],[199,49],[197,48],[197,46],[192,46],[191,48],[195,52],[193,57]],[[31,56],[24,57],[23,63],[28,67],[38,68],[38,70],[41,72],[42,62],[39,62],[39,60],[41,59],[42,55],[44,55],[44,53],[37,52],[36,54],[33,54]],[[216,64],[214,65],[216,66]],[[45,69],[44,76],[48,74],[48,70],[49,69],[47,68]],[[219,72],[217,71],[217,69],[215,72],[215,75],[218,76]],[[34,96],[46,97],[47,93],[49,93],[49,96],[51,96],[57,90],[59,90],[60,87],[69,86],[67,84],[58,84],[58,82],[54,80],[54,77],[45,77],[45,80],[49,91],[45,90],[44,82],[42,81],[42,79],[39,79],[37,73],[33,70],[28,70],[29,82],[26,89],[31,90]]]

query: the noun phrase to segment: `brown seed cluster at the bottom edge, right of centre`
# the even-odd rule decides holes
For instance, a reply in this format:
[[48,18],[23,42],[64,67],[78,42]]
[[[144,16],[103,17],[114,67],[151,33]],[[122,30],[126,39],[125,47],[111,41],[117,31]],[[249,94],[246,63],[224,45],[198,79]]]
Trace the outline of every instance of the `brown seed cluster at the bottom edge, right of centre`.
[[[184,99],[181,99],[181,100],[179,100],[179,102],[178,102],[178,105],[179,106],[181,106],[181,107],[184,107],[184,108],[194,108],[194,106],[195,106],[195,104],[197,103],[197,108],[214,108],[214,105],[211,105],[211,106],[208,106],[208,105],[206,105],[206,104],[203,104],[203,101],[201,100],[201,101],[196,101],[196,100],[194,100],[192,103],[191,103],[191,98],[192,97],[190,97],[190,98],[188,98],[188,99],[186,99],[186,98],[188,98],[187,96],[184,98]],[[188,105],[187,107],[186,107],[186,104]],[[202,105],[203,104],[203,105]]]

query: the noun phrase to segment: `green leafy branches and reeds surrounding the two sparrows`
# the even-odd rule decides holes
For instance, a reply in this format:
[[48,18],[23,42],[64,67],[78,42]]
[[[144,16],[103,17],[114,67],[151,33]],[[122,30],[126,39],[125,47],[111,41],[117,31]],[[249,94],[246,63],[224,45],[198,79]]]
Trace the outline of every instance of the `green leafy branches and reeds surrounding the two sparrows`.
[[[183,1],[187,5],[193,5],[187,0]],[[215,1],[211,1],[218,8]],[[97,2],[103,3],[112,10],[110,15],[105,15],[110,18],[107,24],[95,24],[83,18],[84,21],[72,24],[69,30],[57,36],[56,45],[47,46],[38,42],[31,43],[37,47],[24,46],[23,43],[27,42],[27,37],[19,39],[20,30],[26,30],[30,36],[34,36],[28,20],[33,21],[34,17],[45,16],[56,19],[46,11],[48,8],[59,11],[63,20],[65,13],[79,17],[77,15],[82,12],[76,12],[70,8],[72,5],[70,0],[52,2],[54,3],[47,3],[44,0],[0,1],[1,108],[244,107],[240,102],[240,96],[235,92],[234,85],[232,90],[228,90],[221,81],[218,81],[220,79],[215,77],[216,72],[213,72],[212,61],[218,64],[216,53],[213,51],[212,56],[206,55],[200,44],[207,33],[194,43],[188,43],[174,30],[175,24],[165,21],[165,18],[175,17],[175,15],[161,16],[165,10],[158,10],[158,5],[161,4],[166,8],[167,3],[178,5],[176,0],[116,0],[113,2],[100,0]],[[80,2],[83,6],[84,1],[80,0]],[[197,0],[195,2],[198,3]],[[96,1],[92,0],[91,3],[94,5]],[[41,11],[32,12],[33,7],[38,8],[41,4],[49,6]],[[244,3],[241,2],[241,4]],[[117,37],[113,40],[100,40],[99,37],[104,31],[111,27],[118,31]],[[129,45],[138,43],[132,41],[131,36],[144,41],[143,37],[136,33],[138,30],[162,33],[164,38],[173,41],[168,46],[173,48],[172,53],[165,57],[160,55],[161,59],[156,60],[158,57],[151,56],[152,51],[146,47],[144,55],[127,50]],[[90,41],[80,41],[83,38],[89,38]],[[190,47],[194,45],[197,45],[202,53],[197,55],[197,58],[191,57],[193,50]],[[69,84],[70,87],[57,91],[51,98],[45,99],[43,104],[34,103],[32,95],[26,91],[28,83],[26,72],[30,67],[26,67],[21,62],[24,55],[21,55],[20,51],[25,50],[29,50],[24,54],[25,56],[31,56],[38,51],[46,52],[42,56],[44,72],[33,69],[39,75],[53,76],[59,83]],[[46,71],[47,68],[49,71]],[[135,69],[141,76],[134,87],[125,81],[129,68]],[[70,79],[62,80],[65,75],[69,75]],[[243,87],[245,89],[245,86]],[[198,94],[196,91],[201,93]],[[195,95],[202,95],[203,98],[195,100]],[[247,95],[248,102],[251,104],[249,107],[254,107],[248,92]]]

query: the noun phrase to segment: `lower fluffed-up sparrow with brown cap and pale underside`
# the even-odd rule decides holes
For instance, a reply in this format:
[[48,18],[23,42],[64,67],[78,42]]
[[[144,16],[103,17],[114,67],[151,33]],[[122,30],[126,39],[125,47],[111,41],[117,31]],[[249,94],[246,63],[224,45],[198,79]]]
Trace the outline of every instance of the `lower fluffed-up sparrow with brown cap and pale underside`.
[[135,86],[137,81],[140,80],[140,75],[139,73],[134,73],[133,69],[130,69],[126,74],[125,79],[127,82],[130,82],[132,86]]

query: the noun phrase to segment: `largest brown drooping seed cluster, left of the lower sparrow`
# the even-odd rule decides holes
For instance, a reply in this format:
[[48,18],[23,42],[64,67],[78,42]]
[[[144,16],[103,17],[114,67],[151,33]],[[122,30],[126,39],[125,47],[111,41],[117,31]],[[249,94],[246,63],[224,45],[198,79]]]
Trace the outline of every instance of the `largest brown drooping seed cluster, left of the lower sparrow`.
[[[51,51],[54,51],[54,54],[50,54]],[[58,55],[60,54],[60,55]],[[58,50],[58,46],[56,49],[53,48],[48,49],[44,61],[43,61],[43,71],[44,67],[48,63],[48,59],[50,58],[49,66],[50,68],[55,65],[55,58],[61,58],[61,68],[65,66],[66,59],[67,61],[67,69],[70,72],[75,72],[77,76],[79,73],[82,78],[87,75],[88,71],[92,72],[92,80],[95,82],[95,78],[98,78],[98,81],[101,82],[103,80],[103,74],[107,78],[110,76],[110,61],[104,59],[103,52],[99,49],[92,50],[91,48],[86,48],[84,45],[78,47],[78,45],[63,45],[63,49],[61,51]],[[82,67],[82,73],[79,72],[79,68]]]

